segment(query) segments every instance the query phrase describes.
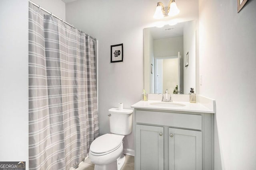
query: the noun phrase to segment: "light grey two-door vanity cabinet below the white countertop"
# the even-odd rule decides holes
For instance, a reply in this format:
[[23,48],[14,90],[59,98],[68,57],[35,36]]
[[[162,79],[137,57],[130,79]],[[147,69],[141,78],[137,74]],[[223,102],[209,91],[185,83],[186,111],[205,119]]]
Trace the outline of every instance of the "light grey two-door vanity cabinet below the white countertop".
[[134,109],[135,170],[213,170],[213,114]]

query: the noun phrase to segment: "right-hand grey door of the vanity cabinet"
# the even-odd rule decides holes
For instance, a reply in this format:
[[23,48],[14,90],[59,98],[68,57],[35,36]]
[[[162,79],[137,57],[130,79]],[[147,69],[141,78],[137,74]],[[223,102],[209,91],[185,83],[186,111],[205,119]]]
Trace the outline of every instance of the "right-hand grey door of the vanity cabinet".
[[169,170],[202,170],[202,132],[169,128]]

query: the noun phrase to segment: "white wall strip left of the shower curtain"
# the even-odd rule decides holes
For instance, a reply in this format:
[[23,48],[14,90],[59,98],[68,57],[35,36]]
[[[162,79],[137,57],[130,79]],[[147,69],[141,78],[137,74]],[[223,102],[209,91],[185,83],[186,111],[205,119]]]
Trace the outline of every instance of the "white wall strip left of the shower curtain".
[[28,170],[28,0],[0,1],[0,161]]

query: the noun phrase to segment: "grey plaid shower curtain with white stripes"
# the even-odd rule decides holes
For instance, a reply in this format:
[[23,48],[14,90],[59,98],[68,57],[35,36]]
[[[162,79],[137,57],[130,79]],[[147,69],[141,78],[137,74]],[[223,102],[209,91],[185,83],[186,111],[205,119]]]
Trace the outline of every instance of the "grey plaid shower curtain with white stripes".
[[30,170],[69,170],[98,137],[95,43],[29,3]]

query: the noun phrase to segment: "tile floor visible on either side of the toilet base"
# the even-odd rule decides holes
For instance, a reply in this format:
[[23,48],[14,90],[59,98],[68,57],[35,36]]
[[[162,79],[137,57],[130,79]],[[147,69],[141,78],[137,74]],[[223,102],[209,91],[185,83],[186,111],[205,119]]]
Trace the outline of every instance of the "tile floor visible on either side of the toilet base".
[[[75,170],[94,170],[94,164],[92,164],[88,157],[84,162],[81,162]],[[122,170],[134,170],[134,156],[125,156],[125,162]]]

